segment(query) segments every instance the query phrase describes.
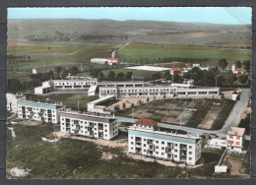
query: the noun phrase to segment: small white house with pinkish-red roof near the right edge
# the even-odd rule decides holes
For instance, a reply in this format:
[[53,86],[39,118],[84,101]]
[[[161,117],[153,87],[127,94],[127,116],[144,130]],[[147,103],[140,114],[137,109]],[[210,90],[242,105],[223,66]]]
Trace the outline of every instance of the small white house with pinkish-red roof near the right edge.
[[245,132],[244,128],[238,128],[238,127],[229,128],[226,135],[228,151],[237,152],[237,153],[242,152],[243,144],[244,144],[244,136],[245,136],[244,132]]

